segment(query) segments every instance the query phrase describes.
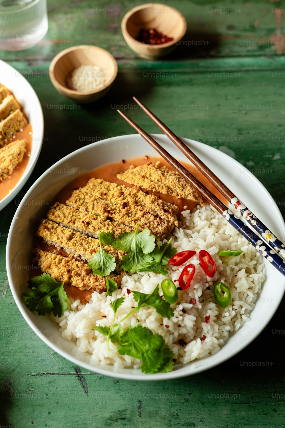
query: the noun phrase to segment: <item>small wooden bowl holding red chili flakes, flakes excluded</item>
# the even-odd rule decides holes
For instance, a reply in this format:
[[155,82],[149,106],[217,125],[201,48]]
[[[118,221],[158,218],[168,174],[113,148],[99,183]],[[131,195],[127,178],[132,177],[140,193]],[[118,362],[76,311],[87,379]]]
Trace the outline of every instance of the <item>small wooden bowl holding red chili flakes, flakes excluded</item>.
[[[163,45],[147,45],[138,42],[139,30],[155,28],[173,40]],[[184,16],[173,7],[162,3],[147,3],[134,7],[122,19],[123,37],[129,47],[146,59],[158,59],[176,48],[176,43],[184,36],[187,23]]]

